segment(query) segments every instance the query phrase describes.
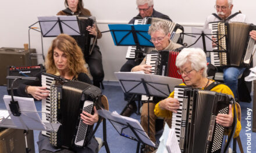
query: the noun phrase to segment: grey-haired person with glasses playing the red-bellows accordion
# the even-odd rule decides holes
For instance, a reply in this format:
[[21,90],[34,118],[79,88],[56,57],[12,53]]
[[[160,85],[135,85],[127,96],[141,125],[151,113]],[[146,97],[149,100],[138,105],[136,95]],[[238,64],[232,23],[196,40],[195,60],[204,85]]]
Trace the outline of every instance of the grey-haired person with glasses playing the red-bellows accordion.
[[[173,43],[170,41],[170,32],[169,27],[166,23],[158,21],[157,23],[153,23],[150,25],[148,29],[148,34],[151,35],[151,42],[154,43],[156,50],[174,50],[182,47],[182,45],[178,43]],[[137,65],[131,69],[132,72],[135,71],[144,71],[145,74],[150,74],[151,65],[145,64],[145,58],[141,61],[140,65]],[[159,101],[157,97],[154,97],[153,101],[150,101],[150,139],[153,142],[155,140],[155,120],[157,116],[154,114],[155,104]],[[143,103],[141,110],[141,126],[143,129],[148,132],[148,103]],[[152,150],[153,148],[151,148]]]

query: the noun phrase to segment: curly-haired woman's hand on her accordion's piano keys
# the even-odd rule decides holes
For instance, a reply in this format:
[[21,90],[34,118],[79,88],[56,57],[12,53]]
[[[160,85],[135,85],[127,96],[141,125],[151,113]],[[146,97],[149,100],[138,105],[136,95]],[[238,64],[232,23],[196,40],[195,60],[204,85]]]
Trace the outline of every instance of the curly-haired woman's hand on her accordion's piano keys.
[[42,86],[29,86],[27,93],[31,94],[36,100],[46,99],[49,96],[49,91],[46,90],[46,87]]

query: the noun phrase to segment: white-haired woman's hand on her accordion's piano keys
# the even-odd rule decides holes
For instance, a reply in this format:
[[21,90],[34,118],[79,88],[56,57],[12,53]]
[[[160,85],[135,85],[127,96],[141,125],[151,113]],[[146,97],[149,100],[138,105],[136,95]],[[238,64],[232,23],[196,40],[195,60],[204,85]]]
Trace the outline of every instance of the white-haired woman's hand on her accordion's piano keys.
[[159,107],[162,110],[177,112],[177,109],[180,107],[180,102],[173,98],[167,98],[159,102]]

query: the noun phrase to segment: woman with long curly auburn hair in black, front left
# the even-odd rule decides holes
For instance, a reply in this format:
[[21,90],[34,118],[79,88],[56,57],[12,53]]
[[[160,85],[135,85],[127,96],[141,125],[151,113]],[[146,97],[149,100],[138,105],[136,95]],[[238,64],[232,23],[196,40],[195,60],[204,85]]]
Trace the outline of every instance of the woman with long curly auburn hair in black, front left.
[[[85,61],[83,59],[83,52],[81,52],[81,49],[77,45],[74,38],[66,34],[60,34],[54,39],[54,41],[52,41],[52,45],[48,50],[47,60],[45,61],[47,73],[59,75],[67,80],[77,80],[91,84],[91,80],[87,76],[87,68],[84,66],[84,64]],[[45,70],[42,72],[45,72]],[[34,97],[34,99],[37,100],[47,98],[49,91],[46,89],[46,87],[41,86],[42,72],[36,75],[36,77],[39,79],[38,81],[27,81],[19,85],[19,88],[17,89],[19,96]],[[98,113],[95,107],[94,112],[95,113],[91,115],[83,111],[83,114],[81,114],[81,119],[83,119],[83,122],[88,125],[93,125],[94,123],[98,122]],[[52,145],[49,143],[48,137],[42,136],[41,133],[38,136],[37,143],[38,150],[40,152],[69,151],[52,147]],[[98,143],[94,137],[88,143],[86,148],[81,149],[81,151],[84,152],[97,152],[97,150]]]

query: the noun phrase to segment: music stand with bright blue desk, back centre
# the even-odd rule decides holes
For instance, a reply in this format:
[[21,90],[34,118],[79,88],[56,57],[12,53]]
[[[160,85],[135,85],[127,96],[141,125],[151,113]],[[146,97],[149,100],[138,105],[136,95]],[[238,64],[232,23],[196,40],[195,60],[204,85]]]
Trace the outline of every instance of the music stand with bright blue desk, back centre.
[[136,60],[144,58],[141,46],[154,47],[148,34],[150,24],[109,24],[108,27],[116,46],[136,46]]

